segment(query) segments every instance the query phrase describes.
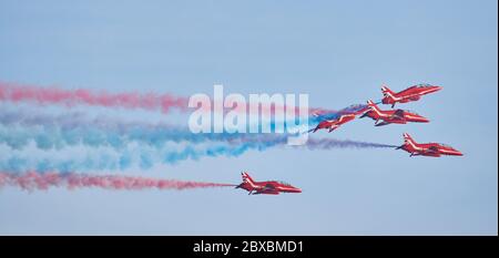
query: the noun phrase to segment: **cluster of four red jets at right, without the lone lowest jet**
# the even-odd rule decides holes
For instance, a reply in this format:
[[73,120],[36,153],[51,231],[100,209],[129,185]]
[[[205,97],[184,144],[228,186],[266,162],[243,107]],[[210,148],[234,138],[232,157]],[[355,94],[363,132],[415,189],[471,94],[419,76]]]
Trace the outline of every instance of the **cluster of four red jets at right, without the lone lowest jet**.
[[[391,109],[395,107],[396,103],[407,103],[413,101],[418,101],[421,96],[440,91],[441,86],[435,86],[430,84],[418,84],[410,86],[400,92],[393,92],[386,85],[381,86],[383,99],[378,103],[390,104]],[[339,112],[340,114],[334,118],[324,118],[318,125],[308,131],[315,133],[318,130],[328,130],[333,132],[337,130],[340,125],[353,121],[357,115],[361,114],[359,118],[370,117],[375,122],[375,126],[383,126],[388,124],[407,124],[407,123],[428,123],[429,120],[406,110],[381,110],[371,100],[367,101],[367,106],[357,109],[354,112]],[[316,116],[319,116],[315,114]],[[410,153],[410,156],[432,156],[439,157],[441,155],[457,155],[462,156],[459,151],[438,143],[418,144],[409,136],[409,134],[404,134],[405,143],[404,145],[397,147],[397,149],[404,149]]]

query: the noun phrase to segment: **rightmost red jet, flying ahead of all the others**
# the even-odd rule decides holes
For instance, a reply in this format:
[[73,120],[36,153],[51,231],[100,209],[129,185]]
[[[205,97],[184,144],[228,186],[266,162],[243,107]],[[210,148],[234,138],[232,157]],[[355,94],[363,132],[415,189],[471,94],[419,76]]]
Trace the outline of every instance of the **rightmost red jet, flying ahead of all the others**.
[[416,143],[408,133],[404,134],[404,144],[397,149],[410,153],[410,156],[439,157],[441,155],[462,156],[462,153],[441,143]]

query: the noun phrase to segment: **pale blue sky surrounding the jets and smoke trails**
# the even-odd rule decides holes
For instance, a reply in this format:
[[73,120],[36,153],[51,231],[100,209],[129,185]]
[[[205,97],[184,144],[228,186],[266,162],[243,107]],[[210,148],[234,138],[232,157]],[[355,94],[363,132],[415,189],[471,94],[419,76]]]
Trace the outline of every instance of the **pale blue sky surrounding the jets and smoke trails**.
[[[431,83],[444,90],[398,106],[429,117],[428,124],[374,127],[365,118],[313,137],[399,145],[407,132],[465,153],[411,158],[390,148],[279,147],[105,172],[237,184],[247,171],[256,180],[303,189],[278,196],[231,188],[6,187],[0,235],[497,235],[497,4],[0,0],[3,82],[183,96],[213,94],[218,83],[243,95],[307,93],[310,106],[325,109],[379,100],[381,84],[400,91]],[[160,112],[85,111],[187,121]]]

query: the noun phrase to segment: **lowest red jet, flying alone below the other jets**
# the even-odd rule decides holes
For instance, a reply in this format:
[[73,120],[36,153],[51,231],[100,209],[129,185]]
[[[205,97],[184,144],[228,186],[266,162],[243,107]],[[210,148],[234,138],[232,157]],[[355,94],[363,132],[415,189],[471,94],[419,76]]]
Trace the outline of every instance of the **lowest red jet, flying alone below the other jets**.
[[246,172],[241,173],[241,175],[243,176],[243,183],[241,183],[235,188],[243,188],[249,192],[248,195],[251,194],[278,195],[279,193],[302,193],[302,189],[296,188],[284,182],[276,182],[276,180],[255,182]]

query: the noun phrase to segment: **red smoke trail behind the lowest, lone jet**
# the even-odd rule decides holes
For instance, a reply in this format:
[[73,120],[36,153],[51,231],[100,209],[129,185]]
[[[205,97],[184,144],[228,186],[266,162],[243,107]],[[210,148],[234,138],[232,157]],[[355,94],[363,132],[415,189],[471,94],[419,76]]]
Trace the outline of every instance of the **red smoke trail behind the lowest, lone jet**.
[[173,179],[144,178],[120,175],[85,175],[75,173],[37,173],[11,174],[0,172],[0,188],[4,186],[18,186],[22,189],[48,189],[49,187],[75,188],[103,188],[103,189],[193,189],[207,187],[235,186],[232,184],[183,182]]

